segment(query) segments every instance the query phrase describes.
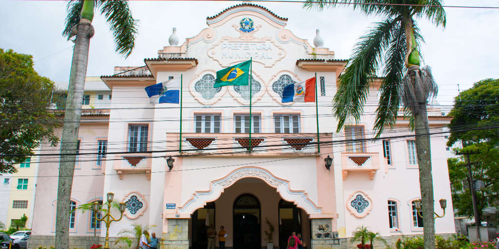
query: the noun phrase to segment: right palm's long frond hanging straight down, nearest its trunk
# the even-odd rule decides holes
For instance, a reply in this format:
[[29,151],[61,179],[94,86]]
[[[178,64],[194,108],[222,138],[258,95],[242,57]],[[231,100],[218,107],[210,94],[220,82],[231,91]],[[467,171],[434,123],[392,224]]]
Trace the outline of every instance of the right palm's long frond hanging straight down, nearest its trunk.
[[380,98],[374,123],[376,137],[381,135],[386,125],[392,128],[397,121],[401,105],[399,88],[402,86],[403,75],[407,71],[404,66],[406,49],[404,34],[404,25],[402,21],[399,21],[393,26],[390,48],[385,54],[384,78],[379,88]]

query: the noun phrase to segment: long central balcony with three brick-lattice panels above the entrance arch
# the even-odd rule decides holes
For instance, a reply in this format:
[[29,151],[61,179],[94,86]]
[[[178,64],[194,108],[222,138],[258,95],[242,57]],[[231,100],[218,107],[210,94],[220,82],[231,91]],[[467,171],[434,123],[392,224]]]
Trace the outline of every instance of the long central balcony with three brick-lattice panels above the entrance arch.
[[[331,141],[330,134],[321,134],[320,141]],[[167,150],[179,149],[179,133],[168,133]],[[316,155],[316,133],[182,133],[182,153],[200,156],[263,157]],[[330,146],[330,145],[323,145]]]

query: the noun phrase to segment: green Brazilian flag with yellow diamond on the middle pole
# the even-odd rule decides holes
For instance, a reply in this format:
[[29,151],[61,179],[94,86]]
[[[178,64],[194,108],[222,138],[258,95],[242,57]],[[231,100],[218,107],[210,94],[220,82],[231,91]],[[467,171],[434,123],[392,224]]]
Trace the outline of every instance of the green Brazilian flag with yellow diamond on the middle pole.
[[217,80],[213,87],[248,86],[251,60],[217,71]]

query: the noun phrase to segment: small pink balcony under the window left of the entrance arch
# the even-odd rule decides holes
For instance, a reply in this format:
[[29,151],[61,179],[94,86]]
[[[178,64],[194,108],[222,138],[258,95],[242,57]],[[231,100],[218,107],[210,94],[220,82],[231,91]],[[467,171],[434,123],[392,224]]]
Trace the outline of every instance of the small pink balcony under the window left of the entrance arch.
[[116,154],[113,169],[122,180],[127,174],[145,173],[147,180],[151,180],[151,153]]

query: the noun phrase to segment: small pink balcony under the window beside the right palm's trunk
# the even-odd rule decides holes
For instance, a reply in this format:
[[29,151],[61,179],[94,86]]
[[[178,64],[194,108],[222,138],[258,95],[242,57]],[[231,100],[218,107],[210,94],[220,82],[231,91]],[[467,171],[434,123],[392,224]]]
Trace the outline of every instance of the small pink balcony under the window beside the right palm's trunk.
[[355,171],[366,172],[372,180],[379,169],[379,153],[341,153],[341,167],[343,180]]

